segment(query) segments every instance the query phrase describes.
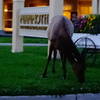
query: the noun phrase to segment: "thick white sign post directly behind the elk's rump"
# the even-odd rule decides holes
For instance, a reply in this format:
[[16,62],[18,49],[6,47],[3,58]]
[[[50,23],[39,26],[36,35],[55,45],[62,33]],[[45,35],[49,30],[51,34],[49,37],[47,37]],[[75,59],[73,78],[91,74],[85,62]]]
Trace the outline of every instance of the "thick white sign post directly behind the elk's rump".
[[[52,17],[57,15],[63,15],[63,7],[64,7],[64,0],[49,0],[49,7],[50,7],[50,18],[49,23],[51,22]],[[48,40],[48,48],[50,46],[50,41]],[[49,54],[49,49],[48,49]],[[59,58],[59,54],[57,54],[57,58]]]

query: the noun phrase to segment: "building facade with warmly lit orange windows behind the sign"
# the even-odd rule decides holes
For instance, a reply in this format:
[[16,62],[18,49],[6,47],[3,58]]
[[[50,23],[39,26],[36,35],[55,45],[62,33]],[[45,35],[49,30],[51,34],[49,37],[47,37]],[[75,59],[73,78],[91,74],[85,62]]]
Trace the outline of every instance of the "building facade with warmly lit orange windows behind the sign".
[[[0,0],[0,30],[12,31],[13,2],[17,0]],[[69,19],[86,14],[99,14],[100,0],[64,0],[63,14]],[[49,6],[49,0],[24,0],[25,7]]]

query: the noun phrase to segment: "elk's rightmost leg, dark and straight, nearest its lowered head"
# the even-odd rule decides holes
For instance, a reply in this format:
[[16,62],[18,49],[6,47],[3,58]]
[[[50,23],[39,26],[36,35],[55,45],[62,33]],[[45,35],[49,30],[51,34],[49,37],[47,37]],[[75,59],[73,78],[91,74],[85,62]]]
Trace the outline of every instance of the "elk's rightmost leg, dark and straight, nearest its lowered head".
[[66,79],[66,56],[64,52],[60,51],[61,61],[62,61],[62,68],[63,68],[63,77]]

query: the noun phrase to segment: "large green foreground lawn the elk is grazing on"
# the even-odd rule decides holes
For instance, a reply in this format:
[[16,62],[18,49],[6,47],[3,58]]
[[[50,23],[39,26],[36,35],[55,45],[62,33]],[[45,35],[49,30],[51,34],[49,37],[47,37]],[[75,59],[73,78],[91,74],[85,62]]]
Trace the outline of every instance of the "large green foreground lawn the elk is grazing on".
[[68,67],[68,78],[62,79],[62,68],[56,62],[56,73],[42,78],[47,47],[24,47],[23,53],[11,53],[11,47],[0,46],[0,95],[54,95],[69,93],[100,93],[100,54],[96,65],[87,66],[86,82],[80,84]]

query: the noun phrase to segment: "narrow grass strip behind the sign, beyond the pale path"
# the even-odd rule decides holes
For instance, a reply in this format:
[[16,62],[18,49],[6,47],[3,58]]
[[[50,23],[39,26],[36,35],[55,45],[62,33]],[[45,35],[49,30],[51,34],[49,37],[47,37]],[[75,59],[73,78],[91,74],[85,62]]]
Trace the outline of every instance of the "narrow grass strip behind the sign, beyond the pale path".
[[[32,37],[24,37],[24,43],[47,43],[48,40],[45,38],[32,38]],[[12,37],[0,37],[0,43],[11,43]]]

